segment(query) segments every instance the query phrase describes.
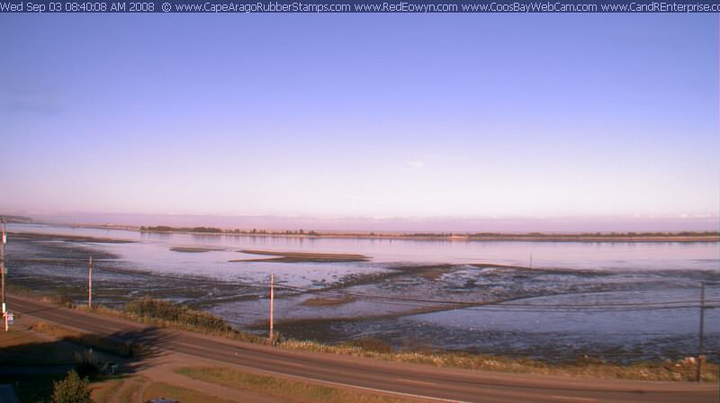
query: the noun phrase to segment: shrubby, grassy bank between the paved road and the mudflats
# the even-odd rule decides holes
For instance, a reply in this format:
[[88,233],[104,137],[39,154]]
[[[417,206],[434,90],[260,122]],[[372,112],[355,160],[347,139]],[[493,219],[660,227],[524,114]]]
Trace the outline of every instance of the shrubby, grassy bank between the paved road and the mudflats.
[[[85,307],[76,308],[85,309]],[[222,318],[165,300],[144,298],[128,303],[125,309],[122,310],[103,308],[93,310],[116,317],[130,318],[152,326],[175,327],[250,343],[267,343],[265,337],[238,331],[230,327]],[[694,381],[696,368],[694,359],[690,358],[678,361],[666,360],[623,364],[606,362],[601,358],[579,357],[573,361],[563,363],[545,363],[537,360],[491,354],[422,350],[395,351],[391,345],[374,339],[349,341],[340,345],[322,345],[312,341],[281,339],[278,337],[275,344],[281,348],[293,350],[346,354],[393,362],[428,364],[437,367],[571,375],[604,379]],[[717,363],[705,363],[703,368],[703,381],[718,380]]]

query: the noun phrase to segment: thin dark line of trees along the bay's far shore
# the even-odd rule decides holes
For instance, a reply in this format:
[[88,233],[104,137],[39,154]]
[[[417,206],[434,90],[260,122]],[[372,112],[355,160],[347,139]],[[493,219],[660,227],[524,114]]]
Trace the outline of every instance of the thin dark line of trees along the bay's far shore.
[[657,237],[720,237],[717,231],[681,231],[681,232],[583,232],[577,234],[557,234],[545,232],[526,233],[503,233],[503,232],[415,232],[415,233],[375,233],[375,232],[317,232],[314,230],[284,230],[274,231],[266,229],[221,229],[212,227],[140,227],[140,231],[147,232],[198,232],[206,234],[238,234],[238,235],[276,235],[276,236],[308,236],[308,237],[419,237],[419,238],[493,238],[493,239],[518,239],[518,238],[657,238]]

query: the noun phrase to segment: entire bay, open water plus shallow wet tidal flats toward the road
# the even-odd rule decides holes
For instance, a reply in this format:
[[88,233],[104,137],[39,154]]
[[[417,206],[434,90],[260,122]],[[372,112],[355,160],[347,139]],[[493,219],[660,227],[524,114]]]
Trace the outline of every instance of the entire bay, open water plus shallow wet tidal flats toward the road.
[[[76,283],[83,287],[84,264],[52,262],[53,251],[74,251],[73,256],[112,254],[97,259],[98,267],[127,270],[128,275],[98,272],[98,300],[134,298],[165,287],[160,295],[201,306],[242,328],[266,320],[266,291],[232,288],[234,283],[266,284],[270,273],[281,285],[306,287],[310,292],[283,294],[275,301],[279,321],[328,319],[309,333],[307,327],[287,327],[290,336],[312,337],[329,343],[373,336],[393,345],[408,340],[422,345],[480,351],[558,351],[590,348],[647,351],[657,354],[693,351],[697,344],[698,309],[553,312],[535,309],[437,310],[417,313],[432,304],[353,298],[337,306],[308,306],[317,296],[312,290],[339,288],[329,297],[343,295],[394,296],[428,300],[489,301],[523,299],[527,303],[612,304],[698,300],[700,282],[720,282],[720,245],[716,242],[466,242],[408,239],[331,237],[268,237],[195,234],[153,234],[116,229],[69,228],[45,225],[8,225],[14,232],[109,237],[134,241],[126,244],[94,243],[68,239],[39,239],[27,243],[10,237],[11,273],[18,282],[43,286]],[[174,246],[207,247],[203,253],[171,251]],[[52,249],[57,247],[58,249]],[[362,263],[235,262],[257,257],[241,249],[362,254]],[[473,264],[530,264],[533,270],[478,268]],[[48,261],[36,259],[42,256]],[[14,269],[13,259],[20,264]],[[82,257],[84,258],[84,257]],[[24,260],[23,260],[24,259]],[[34,260],[33,260],[34,259]],[[426,264],[450,264],[443,273],[414,271]],[[357,276],[396,273],[377,282],[348,282]],[[165,280],[132,274],[133,271],[175,276]],[[182,278],[188,276],[188,281]],[[199,288],[190,276],[227,282],[220,290]],[[12,280],[12,277],[11,277]],[[345,294],[343,294],[345,293]],[[82,294],[79,294],[82,295]],[[80,297],[82,298],[82,297]],[[708,300],[720,302],[720,287],[708,286]],[[357,321],[357,318],[363,320]],[[708,348],[720,349],[720,309],[707,309]],[[281,326],[281,328],[283,328]],[[311,335],[311,336],[308,336]],[[548,353],[548,355],[551,355]]]

